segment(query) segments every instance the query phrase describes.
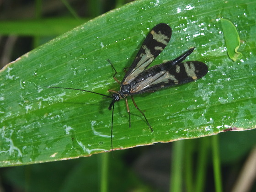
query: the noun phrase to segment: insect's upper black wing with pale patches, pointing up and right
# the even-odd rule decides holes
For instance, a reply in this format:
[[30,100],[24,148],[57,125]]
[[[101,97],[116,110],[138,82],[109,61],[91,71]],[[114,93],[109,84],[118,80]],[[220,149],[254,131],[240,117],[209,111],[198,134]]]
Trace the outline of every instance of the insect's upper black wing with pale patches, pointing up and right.
[[153,27],[145,38],[137,56],[125,74],[122,84],[129,84],[134,78],[143,72],[149,64],[161,53],[171,39],[171,27],[160,23]]

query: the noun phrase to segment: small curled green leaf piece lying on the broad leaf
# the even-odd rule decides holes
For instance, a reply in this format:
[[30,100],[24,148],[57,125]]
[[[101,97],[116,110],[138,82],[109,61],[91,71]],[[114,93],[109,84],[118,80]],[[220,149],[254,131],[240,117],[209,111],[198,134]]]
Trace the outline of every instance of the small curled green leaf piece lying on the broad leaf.
[[220,21],[230,59],[233,61],[241,59],[243,56],[242,53],[237,52],[240,46],[240,38],[235,26],[227,19],[221,18]]

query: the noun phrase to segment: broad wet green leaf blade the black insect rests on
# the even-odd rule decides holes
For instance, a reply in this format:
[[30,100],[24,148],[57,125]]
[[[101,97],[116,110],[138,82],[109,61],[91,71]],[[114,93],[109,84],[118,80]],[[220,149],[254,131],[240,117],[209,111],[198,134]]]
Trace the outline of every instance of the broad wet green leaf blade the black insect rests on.
[[[196,47],[189,60],[208,65],[196,82],[135,96],[154,132],[128,99],[115,105],[113,148],[126,149],[256,127],[256,2],[139,0],[99,16],[21,56],[0,72],[1,166],[88,156],[111,149],[108,94],[118,90],[117,69],[132,63],[145,35],[160,22],[172,28],[170,43],[154,64]],[[239,17],[238,17],[239,16]],[[243,58],[226,54],[220,18],[237,26]]]

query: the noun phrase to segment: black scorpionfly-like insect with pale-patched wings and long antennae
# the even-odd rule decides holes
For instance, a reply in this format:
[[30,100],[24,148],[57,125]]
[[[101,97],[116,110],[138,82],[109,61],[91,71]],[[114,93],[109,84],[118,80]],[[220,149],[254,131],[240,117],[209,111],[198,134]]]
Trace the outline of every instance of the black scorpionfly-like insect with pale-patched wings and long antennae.
[[208,72],[208,67],[206,64],[199,61],[186,61],[182,62],[189,56],[194,48],[190,48],[181,56],[174,60],[155,65],[146,69],[149,64],[163,51],[166,45],[171,39],[171,27],[165,23],[160,23],[153,27],[145,38],[137,56],[133,60],[130,68],[120,82],[117,80],[115,75],[117,74],[116,69],[111,64],[112,68],[115,70],[113,78],[120,84],[120,91],[108,90],[112,93],[112,96],[107,96],[101,93],[96,93],[92,91],[86,91],[75,88],[66,87],[49,87],[49,88],[61,88],[61,89],[72,89],[78,91],[86,91],[90,93],[95,93],[101,96],[112,98],[112,101],[108,107],[109,110],[112,109],[112,124],[111,124],[111,149],[113,150],[113,115],[114,115],[114,105],[115,102],[120,101],[120,99],[125,99],[127,112],[129,115],[129,127],[131,127],[131,114],[128,107],[127,97],[131,96],[134,106],[143,115],[146,123],[148,124],[151,131],[153,131],[150,126],[144,112],[142,112],[136,105],[133,95],[141,94],[145,92],[154,92],[158,89],[170,87],[174,85],[188,83],[197,79],[200,79]]

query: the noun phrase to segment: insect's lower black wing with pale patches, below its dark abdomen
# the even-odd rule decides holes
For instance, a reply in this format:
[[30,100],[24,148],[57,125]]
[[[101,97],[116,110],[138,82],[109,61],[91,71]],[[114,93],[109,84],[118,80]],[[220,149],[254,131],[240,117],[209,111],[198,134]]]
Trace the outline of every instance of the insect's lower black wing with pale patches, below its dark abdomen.
[[[161,65],[163,64],[159,66]],[[207,73],[208,67],[202,62],[187,61],[179,63],[172,66],[170,69],[161,70],[159,73],[137,83],[132,87],[131,95],[188,83],[202,78]]]

